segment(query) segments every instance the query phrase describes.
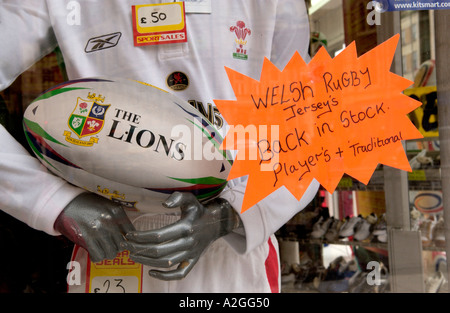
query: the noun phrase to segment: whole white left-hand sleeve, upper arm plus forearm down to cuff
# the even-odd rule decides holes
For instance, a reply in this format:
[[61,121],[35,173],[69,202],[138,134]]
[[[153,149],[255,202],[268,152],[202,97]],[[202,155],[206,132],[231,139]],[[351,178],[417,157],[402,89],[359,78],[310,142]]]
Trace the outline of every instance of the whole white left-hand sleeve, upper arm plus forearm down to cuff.
[[[45,1],[0,1],[0,90],[56,47]],[[53,224],[81,189],[49,173],[0,125],[0,209],[32,228]]]

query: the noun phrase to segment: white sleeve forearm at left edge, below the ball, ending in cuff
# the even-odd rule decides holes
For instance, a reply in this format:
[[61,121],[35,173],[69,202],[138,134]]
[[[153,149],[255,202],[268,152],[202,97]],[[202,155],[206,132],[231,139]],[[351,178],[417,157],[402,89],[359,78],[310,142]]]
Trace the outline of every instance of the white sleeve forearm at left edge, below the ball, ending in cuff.
[[49,173],[0,125],[0,208],[30,227],[58,235],[53,225],[82,189]]

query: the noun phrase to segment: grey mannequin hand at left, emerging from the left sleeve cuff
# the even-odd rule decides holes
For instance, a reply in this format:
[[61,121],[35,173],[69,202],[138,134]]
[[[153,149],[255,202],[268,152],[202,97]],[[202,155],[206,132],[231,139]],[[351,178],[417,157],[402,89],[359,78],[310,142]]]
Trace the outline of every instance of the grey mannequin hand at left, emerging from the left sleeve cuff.
[[92,262],[113,259],[126,250],[125,234],[135,230],[119,204],[93,193],[74,198],[58,216],[54,227],[85,248]]

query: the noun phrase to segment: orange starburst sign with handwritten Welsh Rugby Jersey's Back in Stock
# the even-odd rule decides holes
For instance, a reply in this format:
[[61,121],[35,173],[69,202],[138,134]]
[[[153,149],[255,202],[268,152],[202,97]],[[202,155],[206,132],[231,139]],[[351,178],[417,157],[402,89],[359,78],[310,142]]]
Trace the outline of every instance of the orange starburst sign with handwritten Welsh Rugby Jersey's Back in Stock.
[[367,184],[378,164],[411,171],[402,141],[422,138],[407,114],[421,105],[390,72],[396,35],[358,57],[355,43],[280,71],[264,60],[260,81],[225,68],[236,100],[215,100],[237,150],[228,179],[248,175],[242,212],[285,186],[300,199],[316,179],[333,192],[344,173]]

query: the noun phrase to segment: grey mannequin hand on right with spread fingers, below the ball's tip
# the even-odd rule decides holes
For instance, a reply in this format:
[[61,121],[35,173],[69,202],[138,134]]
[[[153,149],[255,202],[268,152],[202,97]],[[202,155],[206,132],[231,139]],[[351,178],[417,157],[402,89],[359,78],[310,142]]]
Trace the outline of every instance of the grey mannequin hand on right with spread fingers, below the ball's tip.
[[184,278],[213,241],[240,224],[239,215],[228,201],[220,198],[201,204],[191,193],[175,192],[164,206],[180,207],[180,220],[160,229],[126,235],[130,257],[135,262],[159,268],[178,264],[174,270],[149,271],[150,276],[162,280]]

